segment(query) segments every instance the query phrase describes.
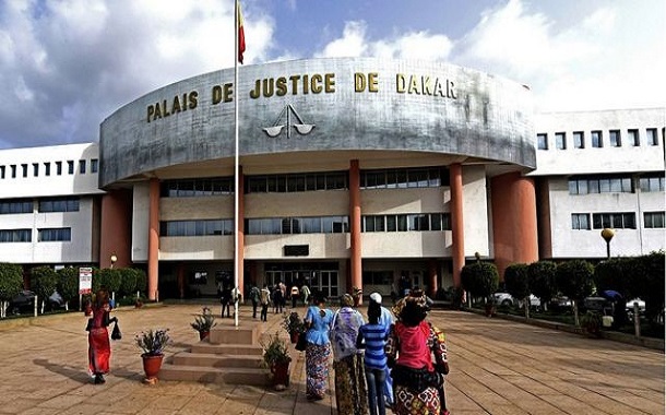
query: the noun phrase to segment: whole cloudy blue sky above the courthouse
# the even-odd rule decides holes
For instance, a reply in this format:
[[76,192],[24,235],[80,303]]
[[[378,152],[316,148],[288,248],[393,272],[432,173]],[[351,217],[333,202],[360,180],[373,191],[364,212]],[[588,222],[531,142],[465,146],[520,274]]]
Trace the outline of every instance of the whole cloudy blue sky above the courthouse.
[[[441,61],[536,111],[666,106],[664,0],[241,0],[245,64]],[[96,142],[140,96],[234,67],[234,0],[0,0],[0,150]]]

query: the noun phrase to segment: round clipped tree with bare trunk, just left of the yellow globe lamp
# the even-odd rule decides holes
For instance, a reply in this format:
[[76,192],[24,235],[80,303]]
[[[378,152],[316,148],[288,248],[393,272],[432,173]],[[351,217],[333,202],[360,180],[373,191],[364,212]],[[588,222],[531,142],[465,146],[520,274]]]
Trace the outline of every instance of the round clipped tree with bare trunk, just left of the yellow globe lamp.
[[578,305],[594,288],[593,275],[594,266],[585,260],[567,261],[557,266],[557,286],[573,301],[575,325],[580,325]]

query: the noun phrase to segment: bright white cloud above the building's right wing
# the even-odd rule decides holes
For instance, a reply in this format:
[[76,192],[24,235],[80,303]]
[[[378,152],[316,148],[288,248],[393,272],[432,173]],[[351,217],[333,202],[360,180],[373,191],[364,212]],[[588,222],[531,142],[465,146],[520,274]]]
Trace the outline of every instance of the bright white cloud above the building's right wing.
[[510,0],[481,14],[476,27],[456,43],[453,59],[531,85],[537,110],[665,104],[658,16],[614,1],[584,19],[572,14],[566,23]]

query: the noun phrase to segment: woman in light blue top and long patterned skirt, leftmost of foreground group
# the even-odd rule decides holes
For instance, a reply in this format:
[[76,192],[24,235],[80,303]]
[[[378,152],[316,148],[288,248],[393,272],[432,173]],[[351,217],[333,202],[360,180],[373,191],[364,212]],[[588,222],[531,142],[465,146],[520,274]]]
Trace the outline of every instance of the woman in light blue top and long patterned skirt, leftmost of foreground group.
[[329,357],[331,356],[331,342],[329,327],[333,319],[333,311],[325,308],[325,297],[318,293],[314,304],[306,312],[306,398],[319,401],[326,393],[329,384]]

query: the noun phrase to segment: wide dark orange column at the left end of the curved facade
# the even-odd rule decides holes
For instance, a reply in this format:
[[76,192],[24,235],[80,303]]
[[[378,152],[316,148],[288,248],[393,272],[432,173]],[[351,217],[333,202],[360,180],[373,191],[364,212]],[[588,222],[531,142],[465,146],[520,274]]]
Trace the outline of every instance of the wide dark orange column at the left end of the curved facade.
[[114,266],[132,265],[132,193],[109,190],[102,197],[99,224],[99,268],[111,265],[111,256],[118,259]]

